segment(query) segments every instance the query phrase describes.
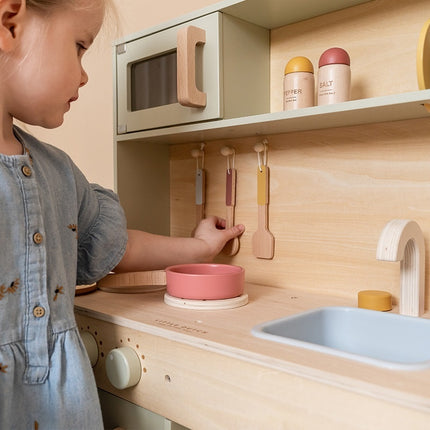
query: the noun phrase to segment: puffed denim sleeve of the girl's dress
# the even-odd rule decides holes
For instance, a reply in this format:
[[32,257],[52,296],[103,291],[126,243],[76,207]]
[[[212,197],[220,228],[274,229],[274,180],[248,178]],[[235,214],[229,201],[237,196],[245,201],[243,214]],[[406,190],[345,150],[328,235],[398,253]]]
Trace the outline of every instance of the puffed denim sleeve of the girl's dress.
[[126,219],[118,196],[87,183],[79,211],[77,283],[90,284],[107,275],[121,261],[126,245]]

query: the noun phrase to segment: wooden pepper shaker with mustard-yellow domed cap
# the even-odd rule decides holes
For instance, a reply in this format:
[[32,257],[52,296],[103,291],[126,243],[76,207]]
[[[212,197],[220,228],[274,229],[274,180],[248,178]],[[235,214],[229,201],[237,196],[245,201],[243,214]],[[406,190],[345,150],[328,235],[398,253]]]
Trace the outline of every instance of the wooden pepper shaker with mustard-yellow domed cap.
[[306,57],[294,57],[284,71],[284,110],[314,106],[314,67]]

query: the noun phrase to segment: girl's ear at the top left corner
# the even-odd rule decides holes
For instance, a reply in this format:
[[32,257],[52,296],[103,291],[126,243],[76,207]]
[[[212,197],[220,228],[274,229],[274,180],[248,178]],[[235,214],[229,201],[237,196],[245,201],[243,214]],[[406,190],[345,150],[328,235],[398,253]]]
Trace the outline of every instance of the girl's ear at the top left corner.
[[21,33],[25,0],[0,0],[0,51],[11,51]]

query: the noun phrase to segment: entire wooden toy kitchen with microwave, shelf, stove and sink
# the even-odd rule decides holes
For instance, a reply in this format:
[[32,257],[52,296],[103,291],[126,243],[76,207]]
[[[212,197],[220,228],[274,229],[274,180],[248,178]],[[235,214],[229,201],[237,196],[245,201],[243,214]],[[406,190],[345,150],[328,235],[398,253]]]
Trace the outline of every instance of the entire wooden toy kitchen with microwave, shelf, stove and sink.
[[[118,41],[129,227],[187,236],[205,213],[246,231],[213,263],[243,269],[230,297],[172,291],[161,271],[76,298],[107,428],[146,428],[127,421],[140,414],[169,428],[428,428],[429,18],[427,0],[228,0]],[[348,54],[350,100],[284,110],[288,61],[306,57],[316,84],[332,48]],[[169,89],[154,101],[159,66],[153,86]],[[187,269],[171,274],[203,275]]]

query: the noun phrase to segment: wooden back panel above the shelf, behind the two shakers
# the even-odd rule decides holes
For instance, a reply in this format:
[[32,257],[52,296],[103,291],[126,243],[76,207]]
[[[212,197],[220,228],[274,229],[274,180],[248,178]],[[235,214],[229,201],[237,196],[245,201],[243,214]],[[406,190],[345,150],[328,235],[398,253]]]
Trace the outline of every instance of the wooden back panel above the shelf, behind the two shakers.
[[416,49],[430,18],[428,0],[374,0],[271,31],[271,111],[282,110],[286,63],[308,57],[315,69],[328,48],[351,57],[353,100],[418,90]]

